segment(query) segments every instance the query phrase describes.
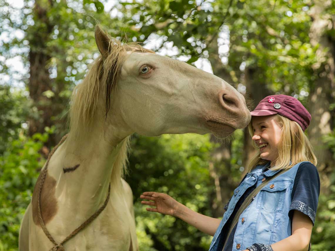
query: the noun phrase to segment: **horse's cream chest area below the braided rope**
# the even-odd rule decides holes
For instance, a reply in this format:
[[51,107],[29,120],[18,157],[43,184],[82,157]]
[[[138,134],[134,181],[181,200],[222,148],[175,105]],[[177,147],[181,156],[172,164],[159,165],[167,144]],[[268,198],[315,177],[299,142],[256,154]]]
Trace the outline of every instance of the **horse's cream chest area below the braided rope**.
[[[119,208],[119,206],[115,207],[115,205],[112,205],[110,201],[100,215],[63,245],[65,251],[136,250],[134,218],[128,209],[124,207]],[[59,217],[60,215],[57,215],[53,221],[47,225],[49,232],[58,243],[60,240],[64,240],[70,232],[78,227],[77,225],[72,226],[66,224],[61,220],[61,217]],[[52,244],[40,226],[35,225],[34,233],[35,234],[31,236],[31,240],[34,239],[34,241],[32,240],[31,242],[34,246],[31,250],[49,250]],[[44,238],[41,239],[41,236],[44,236]],[[36,249],[37,244],[41,246],[39,249]]]

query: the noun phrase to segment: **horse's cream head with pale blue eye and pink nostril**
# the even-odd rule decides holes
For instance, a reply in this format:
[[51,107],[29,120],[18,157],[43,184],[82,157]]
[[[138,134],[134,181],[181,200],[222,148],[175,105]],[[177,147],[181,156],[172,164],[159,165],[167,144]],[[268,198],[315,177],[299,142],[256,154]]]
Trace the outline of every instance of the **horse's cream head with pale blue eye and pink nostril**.
[[102,55],[102,87],[88,92],[104,93],[105,123],[117,123],[114,129],[147,136],[211,132],[225,137],[248,125],[243,95],[221,78],[136,44],[121,45],[98,26],[95,41]]

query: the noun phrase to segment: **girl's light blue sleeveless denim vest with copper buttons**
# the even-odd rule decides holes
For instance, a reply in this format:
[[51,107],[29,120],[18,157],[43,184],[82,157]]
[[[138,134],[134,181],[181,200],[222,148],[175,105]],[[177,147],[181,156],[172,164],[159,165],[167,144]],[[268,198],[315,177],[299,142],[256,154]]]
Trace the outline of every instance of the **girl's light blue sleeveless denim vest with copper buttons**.
[[[245,250],[254,243],[271,245],[292,234],[288,211],[291,205],[294,178],[298,167],[302,163],[304,162],[294,165],[287,172],[271,180],[259,191],[250,205],[242,212],[237,223],[232,251]],[[230,227],[225,226],[225,224],[244,192],[249,187],[255,185],[256,182],[257,186],[259,186],[263,178],[271,178],[271,176],[280,171],[268,170],[263,173],[269,165],[270,162],[265,165],[256,166],[234,190],[227,211],[223,214],[221,223],[213,237],[209,251],[217,250],[222,229]],[[244,219],[242,220],[242,218]]]

